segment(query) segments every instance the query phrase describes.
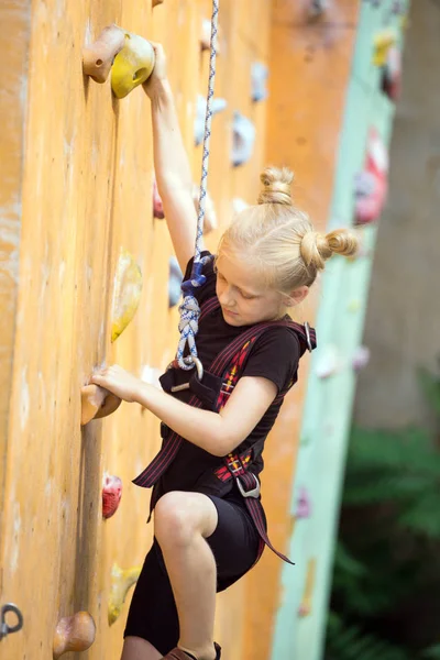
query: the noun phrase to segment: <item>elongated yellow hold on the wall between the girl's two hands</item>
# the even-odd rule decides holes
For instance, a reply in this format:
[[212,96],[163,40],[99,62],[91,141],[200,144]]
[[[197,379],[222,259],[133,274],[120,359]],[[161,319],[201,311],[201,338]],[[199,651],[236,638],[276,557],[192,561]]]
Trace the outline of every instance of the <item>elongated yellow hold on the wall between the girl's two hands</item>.
[[111,304],[111,341],[125,330],[136,314],[142,294],[142,272],[134,257],[124,250],[118,260]]

